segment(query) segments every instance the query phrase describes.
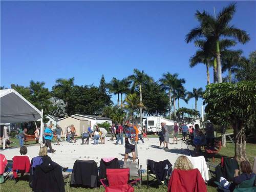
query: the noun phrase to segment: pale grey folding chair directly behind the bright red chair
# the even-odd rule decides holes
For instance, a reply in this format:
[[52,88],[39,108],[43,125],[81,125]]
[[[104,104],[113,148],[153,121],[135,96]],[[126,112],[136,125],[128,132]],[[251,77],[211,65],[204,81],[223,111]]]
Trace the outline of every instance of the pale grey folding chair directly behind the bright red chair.
[[129,168],[130,169],[130,176],[139,178],[140,180],[140,188],[142,185],[142,172],[141,168],[142,165],[140,165],[139,158],[136,157],[135,162],[132,159],[127,159],[126,163],[124,164],[124,158],[122,158],[122,168]]

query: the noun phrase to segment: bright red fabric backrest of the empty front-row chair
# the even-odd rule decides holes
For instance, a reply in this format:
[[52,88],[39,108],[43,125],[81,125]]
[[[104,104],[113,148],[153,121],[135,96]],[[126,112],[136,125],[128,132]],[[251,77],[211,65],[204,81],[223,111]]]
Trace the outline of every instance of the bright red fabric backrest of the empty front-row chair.
[[107,168],[106,179],[108,179],[109,186],[127,184],[130,178],[129,168]]

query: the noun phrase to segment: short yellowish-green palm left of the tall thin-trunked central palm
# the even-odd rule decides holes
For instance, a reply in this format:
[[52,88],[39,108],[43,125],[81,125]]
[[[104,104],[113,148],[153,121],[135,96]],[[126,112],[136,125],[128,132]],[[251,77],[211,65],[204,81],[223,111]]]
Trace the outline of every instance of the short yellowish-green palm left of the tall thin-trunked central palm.
[[140,104],[140,99],[136,93],[126,95],[124,102],[124,108],[129,112],[130,120],[134,118],[134,112],[137,112],[140,107],[145,108],[143,103]]

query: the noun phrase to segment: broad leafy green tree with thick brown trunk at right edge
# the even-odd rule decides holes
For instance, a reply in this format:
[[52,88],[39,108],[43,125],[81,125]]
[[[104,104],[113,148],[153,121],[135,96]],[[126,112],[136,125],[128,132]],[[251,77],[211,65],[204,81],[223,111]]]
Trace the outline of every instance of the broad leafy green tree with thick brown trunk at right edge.
[[204,93],[205,112],[215,124],[232,125],[235,138],[235,155],[239,160],[246,156],[246,129],[250,118],[255,117],[256,81],[217,83],[206,86]]

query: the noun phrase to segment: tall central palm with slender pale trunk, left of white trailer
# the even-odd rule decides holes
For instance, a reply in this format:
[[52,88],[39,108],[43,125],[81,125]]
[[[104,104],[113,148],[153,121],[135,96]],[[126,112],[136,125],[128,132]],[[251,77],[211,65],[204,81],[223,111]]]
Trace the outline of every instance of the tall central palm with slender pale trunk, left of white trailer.
[[140,124],[142,124],[142,85],[145,82],[152,82],[153,78],[148,76],[147,74],[144,73],[144,71],[139,71],[138,69],[134,69],[133,70],[134,74],[130,75],[129,77],[127,77],[127,80],[132,80],[133,81],[133,88],[138,87],[139,88],[139,92],[140,92]]

